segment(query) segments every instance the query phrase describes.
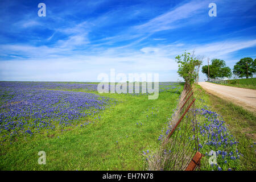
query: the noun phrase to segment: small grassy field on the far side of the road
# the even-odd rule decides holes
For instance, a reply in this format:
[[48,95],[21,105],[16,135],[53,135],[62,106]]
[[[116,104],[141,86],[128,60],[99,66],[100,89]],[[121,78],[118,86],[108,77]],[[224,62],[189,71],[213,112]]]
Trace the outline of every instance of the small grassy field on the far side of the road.
[[236,86],[239,88],[256,89],[256,78],[243,78],[228,80],[228,84],[221,84],[227,86]]

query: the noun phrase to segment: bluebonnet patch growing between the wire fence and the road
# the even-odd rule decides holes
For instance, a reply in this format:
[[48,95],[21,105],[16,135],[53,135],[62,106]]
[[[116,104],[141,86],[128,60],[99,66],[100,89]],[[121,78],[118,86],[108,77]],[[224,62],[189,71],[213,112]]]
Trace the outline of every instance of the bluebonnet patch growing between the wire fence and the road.
[[[238,150],[239,142],[230,134],[221,115],[205,105],[205,101],[199,99],[201,107],[196,110],[199,118],[199,148],[205,155],[202,169],[208,170],[239,170],[240,158],[243,156]],[[216,152],[215,154],[213,154]],[[216,162],[213,160],[216,155]]]

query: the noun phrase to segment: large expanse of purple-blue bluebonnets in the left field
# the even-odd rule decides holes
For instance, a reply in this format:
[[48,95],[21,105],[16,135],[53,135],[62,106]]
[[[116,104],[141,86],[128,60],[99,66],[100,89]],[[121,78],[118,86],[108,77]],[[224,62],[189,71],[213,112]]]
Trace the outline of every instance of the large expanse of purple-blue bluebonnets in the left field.
[[[15,136],[73,126],[115,103],[93,93],[50,89],[97,89],[96,84],[0,82],[1,144]],[[88,123],[85,123],[87,125]],[[47,131],[48,132],[48,131]]]

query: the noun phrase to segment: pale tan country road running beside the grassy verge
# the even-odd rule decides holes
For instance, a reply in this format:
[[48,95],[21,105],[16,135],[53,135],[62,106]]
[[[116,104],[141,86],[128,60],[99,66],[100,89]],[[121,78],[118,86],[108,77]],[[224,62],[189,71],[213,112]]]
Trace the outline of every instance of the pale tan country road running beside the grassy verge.
[[216,96],[234,102],[245,109],[256,111],[256,90],[224,86],[210,82],[199,82],[199,85]]

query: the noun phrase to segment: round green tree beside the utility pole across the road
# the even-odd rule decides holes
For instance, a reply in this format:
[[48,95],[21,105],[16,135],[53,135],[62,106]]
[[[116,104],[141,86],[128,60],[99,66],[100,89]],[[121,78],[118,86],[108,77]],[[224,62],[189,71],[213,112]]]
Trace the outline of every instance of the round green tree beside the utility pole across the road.
[[[208,65],[202,67],[202,72],[208,77]],[[226,66],[224,60],[212,59],[212,64],[209,65],[210,78],[224,78],[231,77],[232,72],[229,67]]]

